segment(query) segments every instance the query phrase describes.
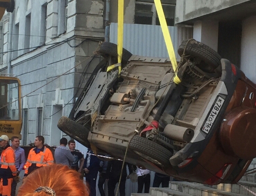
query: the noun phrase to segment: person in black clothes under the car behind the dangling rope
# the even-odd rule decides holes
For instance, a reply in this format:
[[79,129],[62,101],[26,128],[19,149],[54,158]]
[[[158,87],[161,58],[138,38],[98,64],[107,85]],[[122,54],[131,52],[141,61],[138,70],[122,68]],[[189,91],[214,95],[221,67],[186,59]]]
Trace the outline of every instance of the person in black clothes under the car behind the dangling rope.
[[[121,182],[119,187],[120,196],[125,196],[125,182],[127,177],[126,166],[129,168],[129,175],[133,172],[132,164],[124,163],[123,171],[122,170],[123,161],[112,160],[108,161],[106,178],[108,179],[108,196],[115,196],[116,184],[119,182],[120,175]],[[121,174],[122,172],[122,174]]]

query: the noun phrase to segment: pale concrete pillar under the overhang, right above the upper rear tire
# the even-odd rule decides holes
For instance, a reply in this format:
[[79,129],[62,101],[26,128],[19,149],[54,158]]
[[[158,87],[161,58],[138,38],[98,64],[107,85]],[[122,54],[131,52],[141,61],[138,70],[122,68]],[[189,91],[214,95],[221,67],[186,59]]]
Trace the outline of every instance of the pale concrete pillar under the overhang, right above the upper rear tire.
[[193,38],[218,51],[218,21],[196,21]]

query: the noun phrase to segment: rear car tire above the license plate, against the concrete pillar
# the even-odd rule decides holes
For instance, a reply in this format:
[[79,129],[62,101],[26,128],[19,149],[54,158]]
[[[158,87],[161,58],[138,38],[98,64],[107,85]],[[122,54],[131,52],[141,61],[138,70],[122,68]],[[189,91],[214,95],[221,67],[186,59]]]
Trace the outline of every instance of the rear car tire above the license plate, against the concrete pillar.
[[[186,51],[184,52],[185,47]],[[204,72],[215,73],[215,69],[221,65],[221,56],[215,50],[194,39],[181,42],[178,54],[182,56],[183,52],[192,58],[200,58],[202,62],[197,66]]]

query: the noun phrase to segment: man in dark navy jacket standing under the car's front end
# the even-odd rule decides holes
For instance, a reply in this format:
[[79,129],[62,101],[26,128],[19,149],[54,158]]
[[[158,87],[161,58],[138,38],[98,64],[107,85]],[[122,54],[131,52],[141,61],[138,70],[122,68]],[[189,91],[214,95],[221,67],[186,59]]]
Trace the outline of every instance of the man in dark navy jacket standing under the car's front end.
[[90,186],[90,196],[96,196],[96,180],[101,160],[94,155],[91,149],[88,149],[86,159],[83,163],[83,170],[86,174],[86,182]]

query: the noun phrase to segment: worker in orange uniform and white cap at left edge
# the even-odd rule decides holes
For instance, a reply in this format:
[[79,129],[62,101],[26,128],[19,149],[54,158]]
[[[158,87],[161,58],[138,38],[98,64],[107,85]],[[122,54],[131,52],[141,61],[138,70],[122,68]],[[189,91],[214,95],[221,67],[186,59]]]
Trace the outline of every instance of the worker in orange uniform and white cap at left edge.
[[4,149],[0,162],[0,195],[10,196],[13,177],[17,176],[17,169],[15,167],[15,153],[9,145],[9,138],[7,135],[1,135],[0,146]]

